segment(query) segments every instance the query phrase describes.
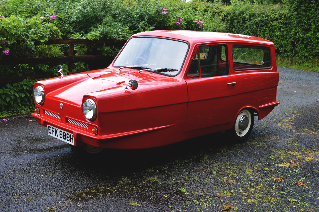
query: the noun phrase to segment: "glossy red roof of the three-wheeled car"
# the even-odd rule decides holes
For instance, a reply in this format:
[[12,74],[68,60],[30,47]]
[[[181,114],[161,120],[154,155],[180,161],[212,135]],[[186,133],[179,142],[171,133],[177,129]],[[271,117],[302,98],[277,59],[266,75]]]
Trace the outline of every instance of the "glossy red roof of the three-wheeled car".
[[205,42],[241,42],[241,43],[255,43],[263,45],[274,44],[270,40],[258,38],[249,35],[232,34],[232,33],[217,33],[217,32],[204,32],[204,31],[187,31],[187,30],[159,30],[159,31],[147,31],[137,33],[136,36],[156,36],[165,37],[178,40],[185,40],[190,43],[205,43]]

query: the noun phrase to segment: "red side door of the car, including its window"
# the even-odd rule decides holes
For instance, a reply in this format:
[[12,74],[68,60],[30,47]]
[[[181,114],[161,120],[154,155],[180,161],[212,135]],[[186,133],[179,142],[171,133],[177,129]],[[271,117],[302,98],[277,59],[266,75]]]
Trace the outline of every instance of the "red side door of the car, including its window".
[[185,81],[188,88],[185,132],[218,125],[231,128],[236,82],[229,75],[227,45],[198,46]]

